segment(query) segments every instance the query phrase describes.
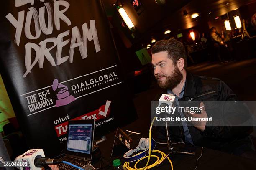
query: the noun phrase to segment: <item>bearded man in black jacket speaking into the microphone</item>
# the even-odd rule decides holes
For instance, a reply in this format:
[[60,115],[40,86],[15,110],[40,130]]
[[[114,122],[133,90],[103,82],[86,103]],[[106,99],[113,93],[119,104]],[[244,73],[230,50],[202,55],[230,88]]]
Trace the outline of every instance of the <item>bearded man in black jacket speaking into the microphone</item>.
[[[176,39],[171,38],[156,42],[151,53],[154,75],[158,85],[164,89],[161,94],[173,94],[178,106],[181,101],[234,101],[236,103],[236,94],[220,79],[195,76],[186,71],[186,52],[183,44]],[[156,100],[159,100],[161,94]],[[206,109],[201,114],[192,115],[189,112],[180,112],[179,114],[182,117],[207,118],[210,112],[207,114],[207,105],[204,105],[203,102],[200,102],[200,107]],[[224,106],[223,108],[227,107]],[[169,126],[169,136],[172,142],[184,142],[189,145],[250,157],[248,154],[254,154],[251,149],[253,147],[252,142],[248,138],[252,127],[232,126],[231,122],[233,117],[247,119],[248,114],[239,112],[234,108],[228,111],[223,109],[220,112],[223,112],[221,121],[225,124],[216,121],[199,121],[196,123],[182,121],[180,126]],[[156,133],[159,139],[166,140],[164,127],[159,127]]]

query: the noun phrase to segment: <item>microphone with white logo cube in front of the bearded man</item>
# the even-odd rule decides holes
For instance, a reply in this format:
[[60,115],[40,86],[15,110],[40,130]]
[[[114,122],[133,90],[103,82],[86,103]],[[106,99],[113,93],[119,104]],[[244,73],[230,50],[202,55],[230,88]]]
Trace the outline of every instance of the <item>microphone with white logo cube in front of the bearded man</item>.
[[[159,99],[159,107],[163,107],[163,106],[173,107],[174,99],[175,99],[175,96],[173,94],[162,94],[162,96]],[[165,116],[166,118],[168,117],[167,112],[165,112]],[[168,129],[167,121],[165,121],[165,127],[166,127],[166,140],[167,140],[168,149],[172,150],[173,147],[169,137],[169,129]]]

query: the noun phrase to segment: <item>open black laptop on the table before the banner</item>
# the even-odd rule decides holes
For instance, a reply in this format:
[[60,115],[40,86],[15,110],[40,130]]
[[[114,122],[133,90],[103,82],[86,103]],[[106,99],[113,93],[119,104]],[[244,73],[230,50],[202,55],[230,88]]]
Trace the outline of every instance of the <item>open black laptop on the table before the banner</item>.
[[[67,141],[65,155],[59,160],[64,160],[88,169],[92,160],[93,137],[95,120],[71,120],[67,128]],[[70,165],[58,164],[59,170],[76,170]]]

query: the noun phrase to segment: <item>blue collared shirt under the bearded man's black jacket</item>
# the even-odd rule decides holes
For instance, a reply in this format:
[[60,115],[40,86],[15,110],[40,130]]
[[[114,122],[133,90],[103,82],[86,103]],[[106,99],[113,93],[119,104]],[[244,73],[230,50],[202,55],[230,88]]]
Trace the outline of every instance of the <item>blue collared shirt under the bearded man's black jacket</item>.
[[[174,94],[174,96],[175,96],[175,102],[176,102],[176,104],[177,104],[178,107],[180,107],[180,105],[179,105],[179,99],[182,99],[182,98],[183,98],[183,95],[184,95],[185,83],[186,83],[186,82],[184,82],[184,85],[183,85],[183,87],[182,87],[182,91],[179,93],[179,97],[178,97],[176,94],[174,94],[171,90],[167,90],[167,93]],[[181,117],[184,117],[183,112],[179,112],[179,114],[180,114]],[[186,121],[182,121],[182,126],[183,126],[183,130],[184,130],[185,141],[186,141],[187,143],[190,143],[190,144],[194,145],[194,143],[193,143],[193,141],[192,141],[192,137],[191,137],[190,132],[189,132],[189,129],[188,129],[188,127],[187,127]]]

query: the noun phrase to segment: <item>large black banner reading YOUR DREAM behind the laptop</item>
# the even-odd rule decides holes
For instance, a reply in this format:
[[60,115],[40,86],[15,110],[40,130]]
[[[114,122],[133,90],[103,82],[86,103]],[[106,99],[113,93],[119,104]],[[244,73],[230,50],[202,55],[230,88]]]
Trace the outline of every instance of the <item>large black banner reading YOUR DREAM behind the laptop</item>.
[[30,148],[59,155],[71,119],[95,119],[96,138],[136,119],[100,0],[1,5],[1,74]]

